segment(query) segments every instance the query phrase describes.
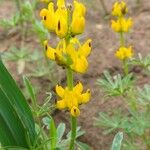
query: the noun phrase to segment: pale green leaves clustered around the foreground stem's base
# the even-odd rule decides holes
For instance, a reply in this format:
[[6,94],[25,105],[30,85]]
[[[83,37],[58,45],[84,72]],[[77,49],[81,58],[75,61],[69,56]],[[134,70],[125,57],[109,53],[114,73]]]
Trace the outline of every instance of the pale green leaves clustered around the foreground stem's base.
[[[44,117],[42,121],[46,128],[49,130],[51,149],[66,150],[66,147],[69,146],[71,131],[65,136],[65,124],[60,123],[56,128],[54,120],[51,117]],[[81,131],[80,129],[80,127],[77,127],[76,139],[85,134],[85,132]],[[63,139],[63,137],[66,137],[66,139]],[[76,140],[75,144],[81,150],[90,150],[90,147],[83,142]]]

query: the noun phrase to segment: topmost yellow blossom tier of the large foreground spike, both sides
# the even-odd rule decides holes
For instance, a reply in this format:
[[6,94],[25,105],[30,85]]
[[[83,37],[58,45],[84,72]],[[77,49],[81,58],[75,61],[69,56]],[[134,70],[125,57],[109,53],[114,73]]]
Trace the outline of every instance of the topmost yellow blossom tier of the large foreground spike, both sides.
[[[84,31],[85,13],[85,6],[77,0],[74,0],[73,13],[69,13],[65,0],[58,0],[56,10],[54,9],[54,3],[50,2],[48,9],[41,10],[40,16],[48,30],[55,32],[60,38],[64,38],[68,33],[74,36]],[[71,14],[72,16],[70,16]],[[70,20],[71,18],[72,20]]]

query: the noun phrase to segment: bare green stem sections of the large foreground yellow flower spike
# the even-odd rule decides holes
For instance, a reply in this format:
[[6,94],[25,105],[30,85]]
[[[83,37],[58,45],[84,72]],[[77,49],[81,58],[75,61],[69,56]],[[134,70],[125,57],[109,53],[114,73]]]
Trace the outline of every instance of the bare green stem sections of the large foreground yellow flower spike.
[[[73,71],[71,68],[67,68],[67,85],[69,90],[73,89]],[[76,139],[76,128],[77,128],[77,119],[76,117],[71,116],[71,140],[69,150],[74,150],[74,143]]]

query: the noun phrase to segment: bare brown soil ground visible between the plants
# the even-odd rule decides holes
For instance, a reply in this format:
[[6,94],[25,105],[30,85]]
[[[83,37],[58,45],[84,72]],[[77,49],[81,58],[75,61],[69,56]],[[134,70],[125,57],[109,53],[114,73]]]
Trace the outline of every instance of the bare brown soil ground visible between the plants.
[[[85,0],[84,0],[85,1]],[[111,10],[112,3],[115,0],[105,0],[108,10]],[[128,0],[130,7],[130,15],[134,20],[134,27],[131,34],[128,36],[128,43],[134,46],[135,55],[142,53],[147,55],[150,52],[150,1],[141,0],[139,7],[136,7],[135,0]],[[14,4],[11,0],[3,1],[0,3],[0,18],[9,18],[14,12]],[[110,20],[105,20],[103,11],[98,0],[92,2],[88,0],[88,14],[87,14],[87,27],[85,34],[80,37],[81,39],[92,38],[93,49],[89,57],[89,70],[84,75],[76,75],[75,80],[81,80],[86,88],[92,89],[92,100],[85,106],[81,106],[81,116],[79,117],[79,125],[86,131],[82,141],[88,143],[93,150],[108,150],[112,143],[112,135],[104,135],[103,129],[93,126],[94,118],[98,116],[100,111],[107,112],[110,109],[123,107],[123,103],[119,99],[110,99],[104,101],[102,99],[102,92],[96,85],[96,80],[100,78],[105,69],[109,69],[113,73],[117,70],[120,71],[120,62],[114,57],[114,51],[118,48],[118,38],[116,34],[110,29]],[[9,10],[9,11],[8,11]],[[2,28],[0,28],[0,52],[8,50],[14,43],[18,43],[18,36],[7,37]],[[28,37],[27,45],[36,48],[39,43],[32,37]],[[16,65],[9,63],[8,67],[17,81],[21,77],[16,76]],[[139,76],[139,85],[150,83],[149,78],[146,76]],[[60,76],[62,83],[65,82],[64,76]],[[44,79],[35,79],[38,86],[48,86],[49,83]],[[44,82],[43,82],[44,80]],[[44,83],[44,84],[43,84]],[[45,91],[40,92],[43,98]],[[68,115],[68,114],[67,114]],[[57,112],[55,115],[56,122],[68,122],[66,112]]]

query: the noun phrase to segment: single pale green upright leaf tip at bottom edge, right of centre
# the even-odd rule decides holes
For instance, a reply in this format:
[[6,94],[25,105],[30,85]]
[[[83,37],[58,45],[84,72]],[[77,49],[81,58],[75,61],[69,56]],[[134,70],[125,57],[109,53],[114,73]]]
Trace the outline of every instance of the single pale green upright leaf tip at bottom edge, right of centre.
[[111,150],[120,150],[122,140],[123,140],[123,133],[122,132],[117,133],[114,137]]

